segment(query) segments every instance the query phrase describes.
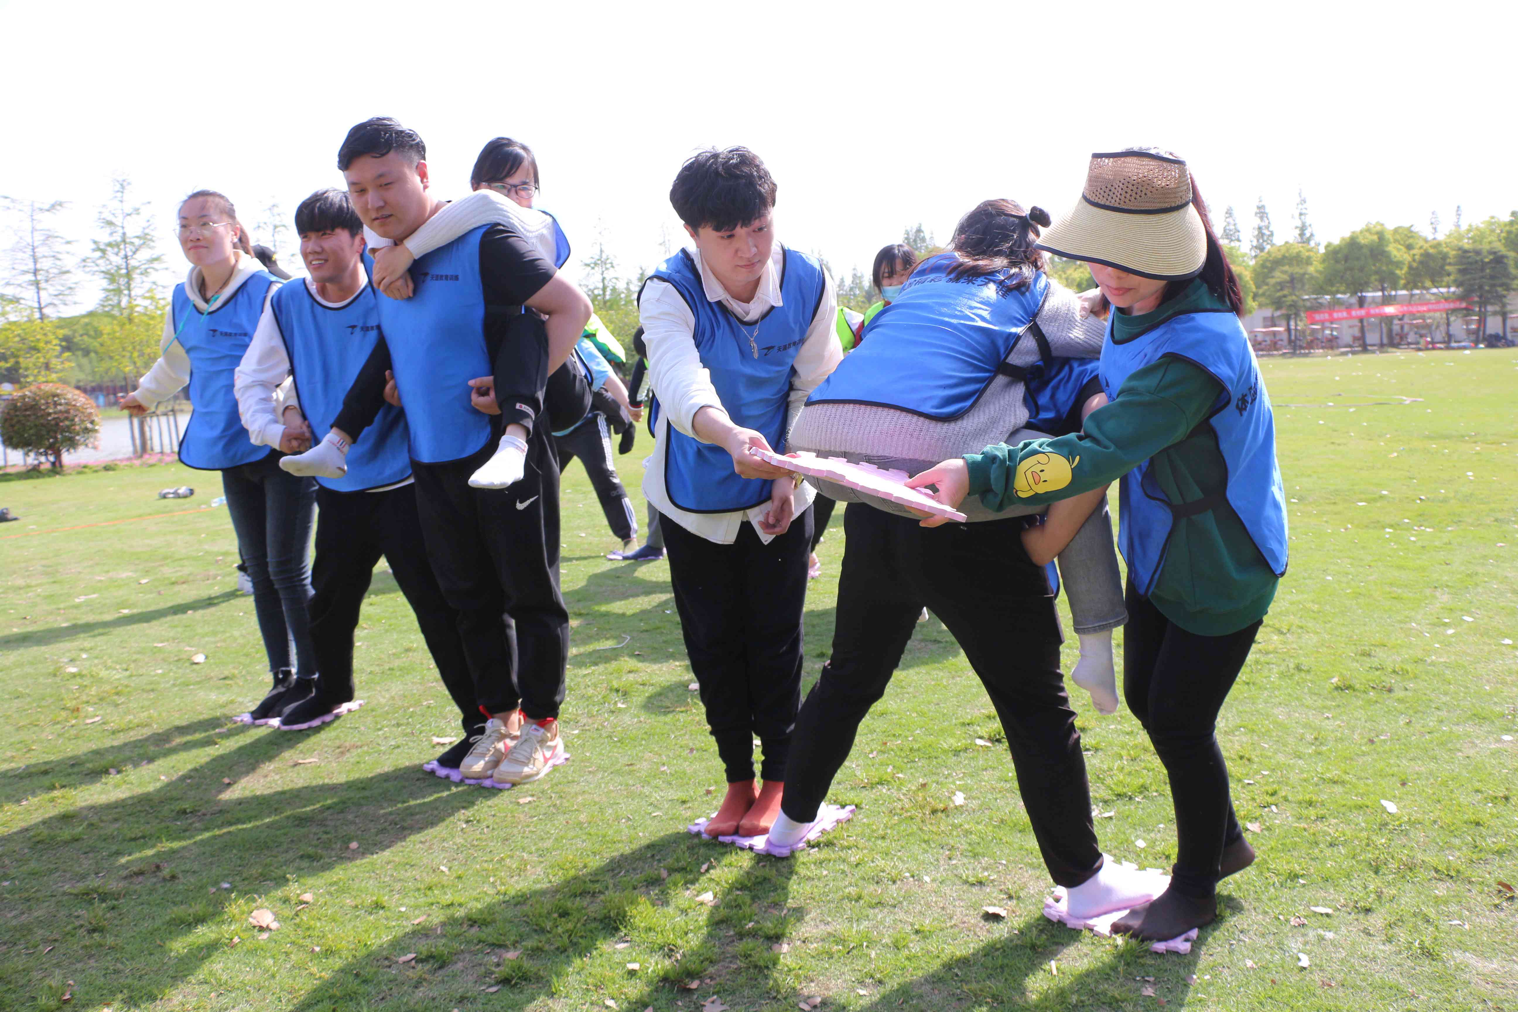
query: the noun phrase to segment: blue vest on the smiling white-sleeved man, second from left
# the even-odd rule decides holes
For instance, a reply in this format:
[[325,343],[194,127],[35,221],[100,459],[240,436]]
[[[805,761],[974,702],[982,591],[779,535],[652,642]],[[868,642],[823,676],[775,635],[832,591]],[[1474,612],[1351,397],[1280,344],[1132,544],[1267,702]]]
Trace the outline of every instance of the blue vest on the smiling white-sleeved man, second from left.
[[[380,340],[375,306],[380,297],[364,284],[348,305],[332,308],[317,302],[304,281],[291,281],[269,303],[313,432],[332,428],[343,396]],[[404,481],[411,473],[410,437],[405,413],[387,404],[348,451],[348,473],[317,481],[332,492],[364,492]]]

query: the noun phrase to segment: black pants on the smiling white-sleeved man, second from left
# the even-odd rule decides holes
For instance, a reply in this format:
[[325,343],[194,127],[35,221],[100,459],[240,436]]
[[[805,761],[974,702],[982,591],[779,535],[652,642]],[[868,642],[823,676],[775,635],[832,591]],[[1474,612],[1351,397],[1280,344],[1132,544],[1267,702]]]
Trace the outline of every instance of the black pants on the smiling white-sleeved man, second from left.
[[457,614],[433,575],[416,511],[416,487],[387,492],[316,490],[316,564],[311,642],[322,692],[332,702],[354,698],[354,630],[375,563],[384,555],[395,583],[416,613],[443,686],[463,715],[465,728],[480,724],[474,680],[458,639]]

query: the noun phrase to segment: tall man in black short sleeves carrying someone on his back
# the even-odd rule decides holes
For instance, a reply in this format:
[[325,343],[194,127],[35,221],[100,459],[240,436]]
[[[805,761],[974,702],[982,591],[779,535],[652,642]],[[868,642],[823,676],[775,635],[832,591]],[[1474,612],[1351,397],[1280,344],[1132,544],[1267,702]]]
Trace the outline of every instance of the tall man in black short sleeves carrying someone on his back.
[[[427,146],[395,120],[352,127],[337,164],[358,217],[392,241],[445,206],[428,193]],[[427,551],[458,611],[475,698],[490,718],[457,774],[502,787],[530,783],[566,757],[557,718],[569,654],[559,464],[539,416],[548,376],[580,340],[591,302],[505,225],[471,229],[420,256],[411,279],[410,299],[375,300],[381,337],[326,440],[282,466],[335,470],[381,410],[393,372]],[[507,369],[496,349],[512,354]],[[490,375],[486,413],[471,379]],[[518,449],[522,476],[507,489],[471,487],[505,445]]]

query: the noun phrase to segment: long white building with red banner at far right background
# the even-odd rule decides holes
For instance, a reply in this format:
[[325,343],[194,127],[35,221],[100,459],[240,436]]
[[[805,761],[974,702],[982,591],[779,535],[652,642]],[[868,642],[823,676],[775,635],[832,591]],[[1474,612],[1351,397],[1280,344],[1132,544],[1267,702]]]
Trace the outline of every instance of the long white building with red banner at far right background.
[[[1389,291],[1383,302],[1381,294],[1368,294],[1365,306],[1390,303],[1430,303],[1457,300],[1460,293],[1454,288],[1436,288],[1433,291]],[[1359,305],[1356,296],[1334,296],[1319,299],[1315,308],[1354,308]],[[1507,297],[1509,334],[1518,337],[1518,291]],[[1371,347],[1381,344],[1424,344],[1431,340],[1435,344],[1445,341],[1453,344],[1480,343],[1477,332],[1479,317],[1474,310],[1453,310],[1447,313],[1425,313],[1409,316],[1383,316],[1365,320],[1365,340]],[[1261,350],[1286,347],[1286,317],[1263,306],[1243,319],[1243,329]],[[1302,347],[1350,347],[1360,344],[1360,320],[1336,320],[1331,323],[1307,323],[1296,320],[1298,344]],[[1486,332],[1503,334],[1503,319],[1495,310],[1486,311]],[[1309,341],[1312,341],[1309,344]]]

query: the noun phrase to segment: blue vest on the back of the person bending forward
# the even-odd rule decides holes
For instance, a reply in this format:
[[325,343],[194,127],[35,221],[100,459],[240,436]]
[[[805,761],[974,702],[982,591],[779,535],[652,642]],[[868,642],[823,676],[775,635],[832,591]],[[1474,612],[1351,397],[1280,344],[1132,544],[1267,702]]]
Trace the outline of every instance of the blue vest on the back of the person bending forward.
[[1000,294],[1005,275],[953,281],[953,253],[912,272],[902,294],[865,323],[859,346],[806,399],[873,404],[929,419],[962,416],[981,399],[1013,344],[1038,316],[1049,279],[1038,272]]

